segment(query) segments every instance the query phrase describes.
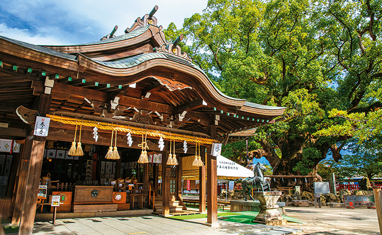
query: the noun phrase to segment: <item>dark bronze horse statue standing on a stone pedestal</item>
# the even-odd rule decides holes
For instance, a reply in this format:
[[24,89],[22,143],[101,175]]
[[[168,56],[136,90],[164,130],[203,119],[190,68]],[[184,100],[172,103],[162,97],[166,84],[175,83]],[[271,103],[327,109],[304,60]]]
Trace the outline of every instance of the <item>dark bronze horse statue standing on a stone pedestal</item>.
[[264,180],[264,176],[261,173],[261,170],[266,170],[266,168],[263,164],[258,162],[253,169],[253,172],[255,173],[254,177],[237,179],[237,181],[241,181],[241,187],[242,187],[241,193],[244,196],[245,200],[247,200],[247,195],[249,195],[251,199],[254,200],[252,195],[250,194],[251,188],[258,188],[261,191],[264,191],[264,186],[268,186],[268,189],[270,191],[270,185],[267,181]]

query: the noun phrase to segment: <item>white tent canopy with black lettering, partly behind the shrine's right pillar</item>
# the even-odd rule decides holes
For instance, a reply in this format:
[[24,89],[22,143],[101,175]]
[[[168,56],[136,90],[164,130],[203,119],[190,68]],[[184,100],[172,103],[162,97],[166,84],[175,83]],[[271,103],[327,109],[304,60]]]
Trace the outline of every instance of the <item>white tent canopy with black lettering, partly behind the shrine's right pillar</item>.
[[[182,176],[187,180],[199,180],[199,167],[193,166],[195,156],[182,158]],[[221,155],[216,156],[217,179],[237,179],[253,177],[254,173]]]

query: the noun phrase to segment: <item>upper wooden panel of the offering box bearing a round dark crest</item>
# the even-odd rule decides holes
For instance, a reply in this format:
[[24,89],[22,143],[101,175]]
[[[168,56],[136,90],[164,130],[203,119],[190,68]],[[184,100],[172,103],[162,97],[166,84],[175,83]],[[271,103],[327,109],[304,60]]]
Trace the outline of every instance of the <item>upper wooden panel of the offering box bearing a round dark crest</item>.
[[113,203],[113,186],[75,186],[74,205],[107,203]]

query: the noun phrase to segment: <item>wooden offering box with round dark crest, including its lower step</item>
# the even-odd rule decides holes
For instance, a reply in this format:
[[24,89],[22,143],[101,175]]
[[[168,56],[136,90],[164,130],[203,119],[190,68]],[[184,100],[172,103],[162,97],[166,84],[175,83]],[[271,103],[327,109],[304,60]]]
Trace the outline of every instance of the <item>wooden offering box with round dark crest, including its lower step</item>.
[[117,211],[117,204],[113,204],[113,188],[113,186],[76,185],[73,212]]

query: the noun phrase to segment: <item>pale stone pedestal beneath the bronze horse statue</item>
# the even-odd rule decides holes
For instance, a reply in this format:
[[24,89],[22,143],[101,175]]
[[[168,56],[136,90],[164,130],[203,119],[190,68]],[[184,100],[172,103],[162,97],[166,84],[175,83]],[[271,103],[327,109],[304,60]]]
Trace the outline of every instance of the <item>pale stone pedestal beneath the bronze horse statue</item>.
[[280,191],[253,192],[260,201],[260,212],[253,222],[266,225],[285,225],[287,222],[277,210],[277,200],[281,196]]

